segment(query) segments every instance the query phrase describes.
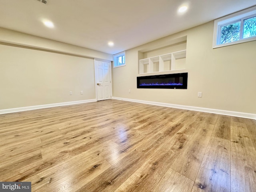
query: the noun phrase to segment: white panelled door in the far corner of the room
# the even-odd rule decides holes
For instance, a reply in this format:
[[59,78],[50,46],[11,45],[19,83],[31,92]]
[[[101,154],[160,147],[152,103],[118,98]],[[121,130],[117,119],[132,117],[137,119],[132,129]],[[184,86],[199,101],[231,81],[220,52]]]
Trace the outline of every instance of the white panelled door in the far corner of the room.
[[111,99],[111,69],[110,62],[95,60],[95,78],[97,100]]

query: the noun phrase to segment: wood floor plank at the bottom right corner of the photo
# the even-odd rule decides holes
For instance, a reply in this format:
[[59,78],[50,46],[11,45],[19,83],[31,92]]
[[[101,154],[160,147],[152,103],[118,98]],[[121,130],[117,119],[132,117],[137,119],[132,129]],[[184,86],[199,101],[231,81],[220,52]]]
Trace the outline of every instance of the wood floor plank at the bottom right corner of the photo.
[[255,191],[256,150],[245,123],[231,122],[231,192]]

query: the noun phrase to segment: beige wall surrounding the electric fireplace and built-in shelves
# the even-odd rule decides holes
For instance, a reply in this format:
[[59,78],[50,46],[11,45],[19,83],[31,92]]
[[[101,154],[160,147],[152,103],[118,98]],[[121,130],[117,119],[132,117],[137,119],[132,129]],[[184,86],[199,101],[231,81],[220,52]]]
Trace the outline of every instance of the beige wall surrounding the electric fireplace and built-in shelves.
[[[212,49],[213,25],[209,22],[127,50],[126,66],[113,69],[113,96],[256,114],[256,41]],[[187,36],[186,69],[176,72],[188,72],[188,89],[137,89],[136,77],[142,76],[138,56],[145,56],[141,50],[182,36]]]

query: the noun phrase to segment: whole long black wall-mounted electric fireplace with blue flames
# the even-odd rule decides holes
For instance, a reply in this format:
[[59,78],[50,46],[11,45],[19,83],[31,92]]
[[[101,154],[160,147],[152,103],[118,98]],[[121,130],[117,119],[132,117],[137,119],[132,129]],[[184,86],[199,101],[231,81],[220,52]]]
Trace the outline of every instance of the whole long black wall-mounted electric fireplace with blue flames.
[[137,77],[137,88],[187,89],[188,73]]

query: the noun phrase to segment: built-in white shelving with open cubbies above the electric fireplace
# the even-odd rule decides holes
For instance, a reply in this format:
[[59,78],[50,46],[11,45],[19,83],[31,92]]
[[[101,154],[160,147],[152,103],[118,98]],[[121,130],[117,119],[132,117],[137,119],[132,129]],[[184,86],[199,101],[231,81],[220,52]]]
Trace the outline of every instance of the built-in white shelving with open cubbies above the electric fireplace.
[[139,60],[139,74],[186,68],[186,50]]

